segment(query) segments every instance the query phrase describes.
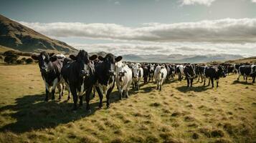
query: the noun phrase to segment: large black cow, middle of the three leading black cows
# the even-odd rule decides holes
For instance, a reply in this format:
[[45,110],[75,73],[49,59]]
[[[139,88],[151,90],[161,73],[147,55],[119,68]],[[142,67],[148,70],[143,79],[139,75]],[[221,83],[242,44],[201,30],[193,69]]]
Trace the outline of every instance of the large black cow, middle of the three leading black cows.
[[82,106],[82,96],[85,94],[86,109],[90,112],[90,93],[96,82],[95,68],[91,60],[96,58],[97,55],[89,58],[86,51],[80,50],[77,56],[70,55],[70,59],[74,61],[67,62],[62,67],[62,77],[65,79],[65,83],[73,97],[73,110],[77,109],[77,94],[80,99],[80,107]]

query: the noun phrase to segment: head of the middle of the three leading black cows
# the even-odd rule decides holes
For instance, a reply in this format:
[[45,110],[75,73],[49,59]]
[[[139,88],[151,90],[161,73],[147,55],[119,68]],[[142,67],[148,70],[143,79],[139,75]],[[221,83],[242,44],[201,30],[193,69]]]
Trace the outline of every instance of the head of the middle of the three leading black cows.
[[80,50],[77,56],[70,55],[70,59],[75,60],[80,66],[77,68],[79,70],[80,77],[88,77],[90,75],[90,60],[96,59],[98,56],[88,56],[87,52]]

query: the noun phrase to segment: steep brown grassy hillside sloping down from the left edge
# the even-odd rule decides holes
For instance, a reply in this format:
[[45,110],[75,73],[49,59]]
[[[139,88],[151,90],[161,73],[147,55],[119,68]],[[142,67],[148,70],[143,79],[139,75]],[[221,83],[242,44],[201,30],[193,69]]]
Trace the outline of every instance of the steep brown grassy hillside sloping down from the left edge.
[[27,26],[0,15],[0,45],[27,52],[60,51],[72,53],[77,49],[63,41],[39,34]]

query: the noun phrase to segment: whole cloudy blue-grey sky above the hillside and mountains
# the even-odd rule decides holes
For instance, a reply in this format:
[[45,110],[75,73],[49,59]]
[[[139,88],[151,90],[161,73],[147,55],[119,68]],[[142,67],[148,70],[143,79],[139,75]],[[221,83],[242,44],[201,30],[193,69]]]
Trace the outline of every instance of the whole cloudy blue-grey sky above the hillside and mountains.
[[0,0],[0,14],[88,52],[256,56],[256,0]]

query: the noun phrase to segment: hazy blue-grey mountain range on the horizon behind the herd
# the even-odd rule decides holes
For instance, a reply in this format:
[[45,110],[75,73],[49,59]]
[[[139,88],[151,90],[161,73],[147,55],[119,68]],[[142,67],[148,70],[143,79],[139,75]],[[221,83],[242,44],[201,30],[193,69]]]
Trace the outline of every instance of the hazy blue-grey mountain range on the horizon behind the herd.
[[[90,55],[98,54],[98,56],[105,56],[107,54],[104,51],[93,52]],[[147,55],[136,55],[136,54],[125,54],[123,55],[124,61],[132,62],[166,62],[166,63],[202,63],[210,61],[228,61],[233,59],[242,59],[243,56],[233,54],[207,54],[207,55],[182,55],[182,54],[147,54]]]

